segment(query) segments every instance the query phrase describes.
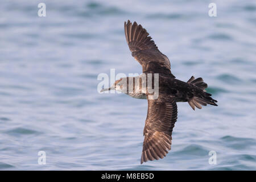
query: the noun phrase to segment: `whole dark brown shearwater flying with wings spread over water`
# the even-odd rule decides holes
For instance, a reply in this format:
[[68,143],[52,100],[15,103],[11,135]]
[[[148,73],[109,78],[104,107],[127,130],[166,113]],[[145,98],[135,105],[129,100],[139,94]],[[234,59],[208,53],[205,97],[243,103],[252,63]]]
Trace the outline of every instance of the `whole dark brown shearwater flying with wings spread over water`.
[[[147,99],[148,109],[143,131],[141,164],[148,160],[163,159],[168,150],[171,150],[172,129],[177,121],[176,102],[188,102],[193,110],[195,107],[201,109],[201,105],[217,106],[215,103],[217,101],[205,91],[207,84],[202,78],[195,79],[192,76],[184,82],[172,75],[168,57],[158,50],[154,40],[151,40],[152,38],[148,35],[141,24],[138,25],[136,22],[132,24],[130,20],[125,22],[127,44],[131,55],[142,65],[143,74],[151,75],[154,80],[155,73],[158,73],[158,97],[151,99],[152,93],[137,84],[132,84],[133,88],[130,92],[130,77],[121,78],[115,81],[110,88],[101,90],[101,92],[118,90],[134,98]],[[142,84],[143,81],[139,82]]]

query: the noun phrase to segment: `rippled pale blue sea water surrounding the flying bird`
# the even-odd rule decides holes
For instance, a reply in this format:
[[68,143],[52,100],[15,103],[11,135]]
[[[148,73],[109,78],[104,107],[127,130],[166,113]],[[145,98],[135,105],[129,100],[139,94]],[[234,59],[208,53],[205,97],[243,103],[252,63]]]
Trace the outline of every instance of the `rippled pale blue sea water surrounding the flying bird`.
[[[256,3],[214,1],[210,17],[211,2],[1,0],[0,170],[255,170]],[[218,100],[196,111],[178,103],[172,150],[142,165],[147,101],[97,92],[100,73],[142,73],[128,19],[176,78],[203,77]]]

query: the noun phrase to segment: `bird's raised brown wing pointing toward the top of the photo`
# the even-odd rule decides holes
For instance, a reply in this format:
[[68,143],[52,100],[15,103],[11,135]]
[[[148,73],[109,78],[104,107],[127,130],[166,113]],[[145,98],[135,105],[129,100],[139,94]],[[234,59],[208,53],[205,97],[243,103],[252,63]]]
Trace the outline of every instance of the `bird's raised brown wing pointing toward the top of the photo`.
[[163,55],[155,45],[154,40],[148,36],[148,32],[141,24],[130,20],[125,22],[125,36],[127,44],[133,57],[142,65],[144,72],[169,73],[171,74],[171,64],[166,55]]

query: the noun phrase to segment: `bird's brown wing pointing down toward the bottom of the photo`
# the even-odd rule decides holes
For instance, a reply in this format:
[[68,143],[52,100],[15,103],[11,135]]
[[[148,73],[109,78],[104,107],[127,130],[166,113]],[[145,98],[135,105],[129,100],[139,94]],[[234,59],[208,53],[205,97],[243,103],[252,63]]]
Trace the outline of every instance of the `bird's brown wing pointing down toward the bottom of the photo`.
[[158,99],[148,100],[141,163],[166,156],[171,150],[172,129],[176,121],[177,105],[173,98],[159,93]]

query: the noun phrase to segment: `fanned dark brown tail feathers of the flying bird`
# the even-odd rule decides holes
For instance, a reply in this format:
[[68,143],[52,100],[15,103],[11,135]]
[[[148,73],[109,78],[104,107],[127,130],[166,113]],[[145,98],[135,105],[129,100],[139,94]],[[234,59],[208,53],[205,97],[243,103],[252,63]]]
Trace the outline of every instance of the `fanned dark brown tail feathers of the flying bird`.
[[200,94],[200,96],[195,96],[193,97],[191,100],[188,101],[188,104],[192,107],[193,110],[195,110],[195,107],[197,107],[198,109],[201,109],[202,106],[206,106],[207,104],[210,105],[214,105],[217,106],[217,104],[215,102],[218,102],[216,100],[214,100],[212,97],[212,94],[207,93],[205,91],[205,89],[207,88],[207,83],[204,82],[203,78],[196,78],[194,76],[192,76],[187,83],[189,84],[193,84],[197,87],[199,87],[201,90],[203,90],[203,94]]

